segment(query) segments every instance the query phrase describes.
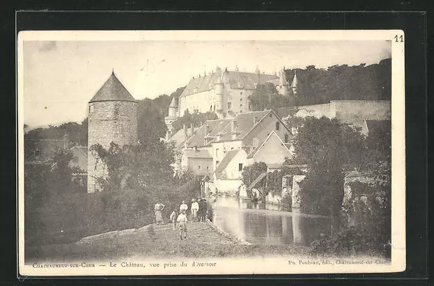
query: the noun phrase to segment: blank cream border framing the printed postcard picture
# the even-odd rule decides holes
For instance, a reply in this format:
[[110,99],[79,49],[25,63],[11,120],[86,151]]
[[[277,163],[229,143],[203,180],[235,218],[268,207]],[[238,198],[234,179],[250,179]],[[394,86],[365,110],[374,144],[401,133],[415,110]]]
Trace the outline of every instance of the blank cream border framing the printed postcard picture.
[[[325,31],[21,31],[17,40],[17,104],[18,104],[18,253],[19,271],[24,276],[100,276],[159,274],[252,274],[252,273],[374,273],[405,270],[405,61],[404,43],[395,42],[401,30],[325,30]],[[321,265],[320,267],[288,267],[288,257],[250,257],[210,259],[218,267],[153,269],[79,268],[37,269],[24,265],[24,102],[23,42],[57,41],[217,41],[217,40],[391,40],[392,41],[392,262],[384,265]],[[295,258],[294,258],[295,259]],[[357,257],[357,260],[362,259]],[[149,260],[149,259],[147,259]],[[354,260],[354,258],[352,259]],[[158,259],[153,260],[158,261]],[[161,260],[160,261],[167,261]],[[173,262],[180,262],[175,258]],[[192,262],[192,259],[185,259]]]

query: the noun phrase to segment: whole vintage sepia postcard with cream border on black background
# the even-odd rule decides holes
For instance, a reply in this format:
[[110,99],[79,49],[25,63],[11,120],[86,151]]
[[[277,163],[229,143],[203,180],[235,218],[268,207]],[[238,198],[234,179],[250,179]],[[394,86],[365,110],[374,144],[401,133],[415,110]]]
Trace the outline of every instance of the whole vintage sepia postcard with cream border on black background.
[[405,270],[404,37],[20,32],[20,275]]

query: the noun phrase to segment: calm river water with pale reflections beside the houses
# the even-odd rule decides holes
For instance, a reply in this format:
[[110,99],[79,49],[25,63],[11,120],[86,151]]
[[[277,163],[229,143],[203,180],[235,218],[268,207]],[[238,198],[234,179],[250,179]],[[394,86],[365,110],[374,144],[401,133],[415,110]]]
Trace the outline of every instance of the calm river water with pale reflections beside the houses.
[[330,231],[329,219],[281,212],[278,205],[219,197],[213,208],[214,223],[219,228],[253,244],[309,245],[321,233]]

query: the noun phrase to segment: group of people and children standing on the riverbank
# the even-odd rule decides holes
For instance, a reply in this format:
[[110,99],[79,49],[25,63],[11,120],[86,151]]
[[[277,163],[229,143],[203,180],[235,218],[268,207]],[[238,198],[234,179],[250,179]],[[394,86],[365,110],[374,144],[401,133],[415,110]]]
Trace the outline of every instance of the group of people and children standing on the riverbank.
[[[157,200],[157,203],[155,204],[154,211],[155,211],[155,221],[157,221],[157,225],[164,224],[162,211],[166,207],[163,205],[160,200]],[[208,212],[208,203],[206,202],[206,198],[192,198],[192,203],[190,207],[185,203],[185,200],[181,203],[179,207],[179,214],[178,209],[173,209],[173,212],[170,215],[170,221],[173,223],[173,230],[176,229],[176,223],[178,223],[179,226],[179,237],[180,239],[186,239],[187,238],[187,211],[190,209],[190,219],[192,222],[198,222],[198,221],[206,221],[206,215]]]

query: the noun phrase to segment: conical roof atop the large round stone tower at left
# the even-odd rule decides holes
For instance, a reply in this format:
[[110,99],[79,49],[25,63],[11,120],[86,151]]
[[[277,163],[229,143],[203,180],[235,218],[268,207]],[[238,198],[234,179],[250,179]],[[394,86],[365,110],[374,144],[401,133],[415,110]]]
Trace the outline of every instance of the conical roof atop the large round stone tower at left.
[[114,75],[114,72],[111,72],[109,79],[101,86],[100,90],[92,97],[89,103],[107,101],[137,102],[116,75]]

